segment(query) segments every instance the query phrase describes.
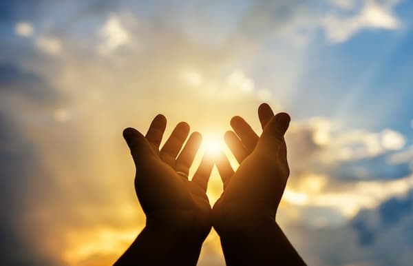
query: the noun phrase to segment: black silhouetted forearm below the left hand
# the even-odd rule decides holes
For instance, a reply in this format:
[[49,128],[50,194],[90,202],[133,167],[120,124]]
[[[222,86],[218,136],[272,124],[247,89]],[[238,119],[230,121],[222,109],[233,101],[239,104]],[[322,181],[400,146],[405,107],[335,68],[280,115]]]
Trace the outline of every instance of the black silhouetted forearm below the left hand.
[[202,242],[145,227],[114,265],[196,265]]

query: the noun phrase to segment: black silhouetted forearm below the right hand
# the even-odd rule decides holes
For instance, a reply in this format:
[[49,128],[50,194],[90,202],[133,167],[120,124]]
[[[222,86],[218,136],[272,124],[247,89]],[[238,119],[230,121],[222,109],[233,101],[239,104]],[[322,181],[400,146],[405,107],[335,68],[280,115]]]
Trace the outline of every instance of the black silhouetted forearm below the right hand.
[[240,234],[221,236],[221,245],[229,266],[306,265],[275,221]]

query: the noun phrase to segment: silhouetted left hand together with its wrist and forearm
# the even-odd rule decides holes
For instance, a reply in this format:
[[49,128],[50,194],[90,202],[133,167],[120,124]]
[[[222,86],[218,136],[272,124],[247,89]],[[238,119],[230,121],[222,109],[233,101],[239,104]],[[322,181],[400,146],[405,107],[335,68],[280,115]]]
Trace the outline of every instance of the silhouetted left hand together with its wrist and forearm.
[[158,115],[146,136],[133,128],[123,132],[136,165],[136,195],[147,223],[118,264],[195,265],[211,230],[206,190],[213,161],[204,156],[189,181],[189,167],[200,147],[201,135],[193,132],[180,152],[189,125],[178,123],[159,150],[166,123],[165,116]]

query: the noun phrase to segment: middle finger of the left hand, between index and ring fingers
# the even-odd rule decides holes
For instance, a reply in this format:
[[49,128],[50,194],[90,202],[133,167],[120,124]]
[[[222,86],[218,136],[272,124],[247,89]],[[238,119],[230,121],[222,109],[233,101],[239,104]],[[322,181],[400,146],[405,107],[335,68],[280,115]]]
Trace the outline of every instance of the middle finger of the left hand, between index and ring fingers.
[[165,163],[175,167],[175,158],[178,155],[182,145],[184,144],[189,134],[189,125],[185,122],[180,122],[173,129],[171,136],[165,145],[160,150],[160,158]]

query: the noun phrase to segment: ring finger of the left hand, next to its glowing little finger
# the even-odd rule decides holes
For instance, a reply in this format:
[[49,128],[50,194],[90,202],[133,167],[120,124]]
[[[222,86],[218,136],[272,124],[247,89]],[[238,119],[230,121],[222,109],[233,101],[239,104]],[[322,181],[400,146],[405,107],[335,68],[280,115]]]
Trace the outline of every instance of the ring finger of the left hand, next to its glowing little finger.
[[193,163],[193,158],[195,158],[196,152],[201,145],[202,136],[199,132],[193,132],[185,144],[182,152],[179,154],[175,163],[176,172],[183,172],[189,174],[189,168]]

